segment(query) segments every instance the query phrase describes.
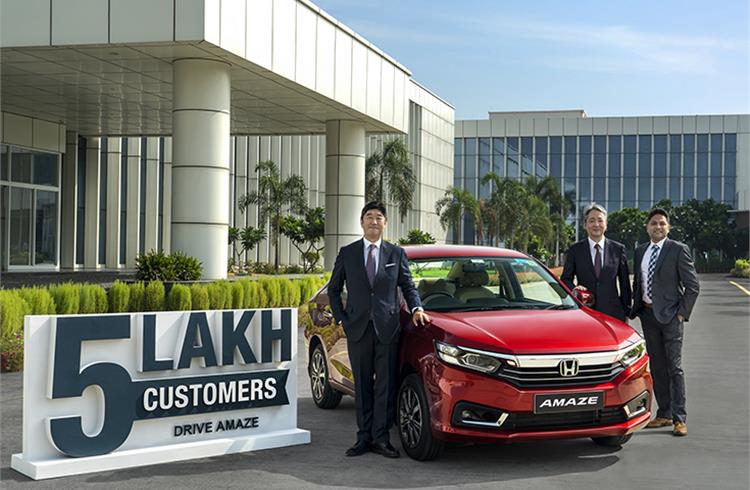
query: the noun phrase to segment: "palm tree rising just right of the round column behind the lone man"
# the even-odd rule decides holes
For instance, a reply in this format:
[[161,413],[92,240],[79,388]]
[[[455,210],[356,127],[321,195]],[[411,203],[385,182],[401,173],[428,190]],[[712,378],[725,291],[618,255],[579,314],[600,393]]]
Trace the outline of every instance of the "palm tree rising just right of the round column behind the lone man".
[[402,222],[411,208],[416,187],[409,149],[402,140],[386,142],[382,152],[376,151],[365,161],[367,200],[385,202],[388,198],[398,206]]

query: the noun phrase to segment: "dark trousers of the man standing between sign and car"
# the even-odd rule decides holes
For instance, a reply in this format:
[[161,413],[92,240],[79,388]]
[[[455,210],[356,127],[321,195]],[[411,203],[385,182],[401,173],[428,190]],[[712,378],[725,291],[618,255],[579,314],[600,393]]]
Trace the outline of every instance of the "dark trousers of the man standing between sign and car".
[[354,374],[357,441],[387,443],[396,417],[398,342],[385,344],[372,322],[356,342],[347,341]]

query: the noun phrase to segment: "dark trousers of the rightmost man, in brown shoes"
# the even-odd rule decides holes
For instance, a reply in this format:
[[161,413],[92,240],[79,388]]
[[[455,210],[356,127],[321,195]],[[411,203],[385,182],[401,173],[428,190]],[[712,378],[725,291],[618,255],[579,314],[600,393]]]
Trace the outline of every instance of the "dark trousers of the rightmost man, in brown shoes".
[[684,324],[676,316],[668,324],[660,323],[651,308],[644,308],[640,318],[651,360],[654,396],[659,404],[656,416],[685,422],[685,374],[682,371]]

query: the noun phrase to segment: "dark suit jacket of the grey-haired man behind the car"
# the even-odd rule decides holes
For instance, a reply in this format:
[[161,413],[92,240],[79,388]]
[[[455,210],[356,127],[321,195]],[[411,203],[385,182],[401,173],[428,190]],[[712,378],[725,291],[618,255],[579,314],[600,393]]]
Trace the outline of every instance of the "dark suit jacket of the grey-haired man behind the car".
[[[599,279],[594,272],[588,238],[574,243],[568,250],[563,267],[562,281],[573,289],[573,277],[579,286],[594,293],[594,309],[620,320],[630,313],[630,278],[625,245],[604,240],[604,262]],[[617,290],[617,284],[620,290]]]

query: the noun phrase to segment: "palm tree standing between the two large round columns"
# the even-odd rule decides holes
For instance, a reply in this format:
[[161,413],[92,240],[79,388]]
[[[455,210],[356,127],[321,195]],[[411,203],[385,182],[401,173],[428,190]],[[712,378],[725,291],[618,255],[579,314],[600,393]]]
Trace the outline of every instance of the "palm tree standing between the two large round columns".
[[274,246],[274,269],[279,272],[279,235],[284,210],[303,214],[307,209],[307,186],[299,175],[281,178],[279,166],[272,160],[260,162],[255,167],[258,173],[258,190],[240,197],[242,212],[251,204],[258,205],[258,222],[271,226],[271,242]]

